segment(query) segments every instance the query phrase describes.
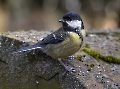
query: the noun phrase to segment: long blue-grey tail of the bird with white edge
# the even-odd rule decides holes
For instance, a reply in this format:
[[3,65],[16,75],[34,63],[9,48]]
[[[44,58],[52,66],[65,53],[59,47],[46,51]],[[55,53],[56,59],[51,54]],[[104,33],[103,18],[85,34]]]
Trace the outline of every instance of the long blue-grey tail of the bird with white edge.
[[31,46],[27,46],[27,47],[22,47],[14,52],[12,52],[12,54],[15,53],[22,53],[22,52],[27,52],[27,51],[31,51],[31,50],[35,50],[35,49],[43,49],[43,46],[40,44],[35,44],[35,45],[31,45]]

